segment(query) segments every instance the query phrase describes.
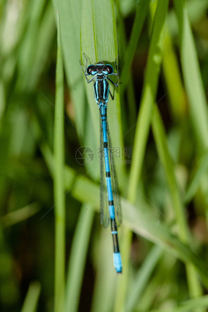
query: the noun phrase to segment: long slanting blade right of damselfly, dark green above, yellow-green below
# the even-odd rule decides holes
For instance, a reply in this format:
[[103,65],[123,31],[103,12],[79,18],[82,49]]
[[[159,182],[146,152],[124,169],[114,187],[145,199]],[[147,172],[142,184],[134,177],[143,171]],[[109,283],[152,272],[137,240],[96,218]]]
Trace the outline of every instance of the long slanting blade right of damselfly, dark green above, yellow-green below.
[[141,176],[144,151],[152,116],[151,108],[155,103],[157,84],[162,61],[167,4],[168,1],[166,0],[158,1],[148,53],[148,61],[143,85],[143,96],[136,124],[132,164],[129,176],[130,183],[128,189],[128,198],[133,202],[136,198],[136,189],[134,188],[134,185],[137,186]]

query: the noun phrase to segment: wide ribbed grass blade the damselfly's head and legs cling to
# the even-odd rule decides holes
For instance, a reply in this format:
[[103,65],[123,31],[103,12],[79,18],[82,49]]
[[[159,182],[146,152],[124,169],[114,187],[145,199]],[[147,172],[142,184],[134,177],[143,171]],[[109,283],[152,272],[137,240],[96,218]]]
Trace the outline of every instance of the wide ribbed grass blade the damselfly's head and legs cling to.
[[[100,14],[100,12],[102,12],[102,14]],[[87,66],[90,64],[95,64],[99,61],[104,61],[105,64],[111,64],[114,68],[114,72],[116,72],[115,59],[118,55],[118,48],[114,3],[112,0],[102,0],[99,2],[96,0],[90,0],[90,5],[89,1],[83,1],[80,45],[81,63],[84,70],[86,59],[83,56],[83,53],[85,53],[85,56],[88,58]],[[119,64],[119,58],[117,61]],[[92,127],[94,130],[93,150],[97,151],[97,147],[99,146],[99,109],[97,108],[97,104],[94,99],[93,83],[94,82],[88,84],[85,80],[87,100],[89,104],[90,116],[92,119]],[[113,89],[113,85],[110,84],[110,90],[112,90],[112,93]],[[118,90],[119,87],[115,90],[114,101],[112,101],[109,96],[108,123],[110,133],[113,134],[111,136],[112,145],[121,148],[123,145],[123,140],[120,98]],[[120,159],[122,159],[121,156],[118,158],[118,160]],[[122,163],[119,165],[119,170],[124,170]],[[121,176],[119,176],[119,179],[120,178]]]

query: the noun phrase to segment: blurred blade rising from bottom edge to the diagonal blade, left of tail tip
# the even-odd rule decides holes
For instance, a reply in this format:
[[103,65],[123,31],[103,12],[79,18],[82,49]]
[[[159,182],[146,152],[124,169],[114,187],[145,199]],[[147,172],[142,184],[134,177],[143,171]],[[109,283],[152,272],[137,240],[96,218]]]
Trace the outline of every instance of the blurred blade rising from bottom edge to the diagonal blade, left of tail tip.
[[66,312],[76,312],[85,268],[90,231],[93,222],[93,209],[83,205],[75,229],[66,281]]

